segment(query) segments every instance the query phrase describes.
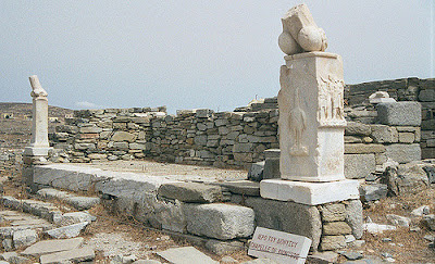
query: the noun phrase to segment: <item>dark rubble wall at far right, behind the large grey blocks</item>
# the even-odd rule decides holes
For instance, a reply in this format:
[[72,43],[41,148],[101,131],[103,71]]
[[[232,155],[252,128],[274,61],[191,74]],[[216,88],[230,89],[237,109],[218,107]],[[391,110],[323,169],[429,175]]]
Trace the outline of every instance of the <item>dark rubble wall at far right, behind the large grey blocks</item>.
[[418,101],[422,105],[422,159],[435,158],[435,79],[402,78],[347,85],[349,105],[360,105],[375,91],[387,91],[397,101]]

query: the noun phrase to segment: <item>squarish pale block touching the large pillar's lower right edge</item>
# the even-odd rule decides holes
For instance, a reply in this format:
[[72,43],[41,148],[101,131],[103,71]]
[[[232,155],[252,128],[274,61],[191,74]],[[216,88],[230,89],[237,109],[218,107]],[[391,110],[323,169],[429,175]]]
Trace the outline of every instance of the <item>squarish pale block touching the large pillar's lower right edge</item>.
[[365,178],[376,171],[374,154],[345,154],[345,176],[348,179]]

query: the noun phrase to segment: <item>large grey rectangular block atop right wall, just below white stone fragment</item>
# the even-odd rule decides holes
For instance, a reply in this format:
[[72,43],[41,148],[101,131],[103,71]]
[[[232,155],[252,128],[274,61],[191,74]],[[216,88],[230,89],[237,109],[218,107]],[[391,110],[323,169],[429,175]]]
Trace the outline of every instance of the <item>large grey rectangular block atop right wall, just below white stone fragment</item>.
[[420,126],[421,104],[419,102],[380,103],[376,106],[381,124],[393,126]]

